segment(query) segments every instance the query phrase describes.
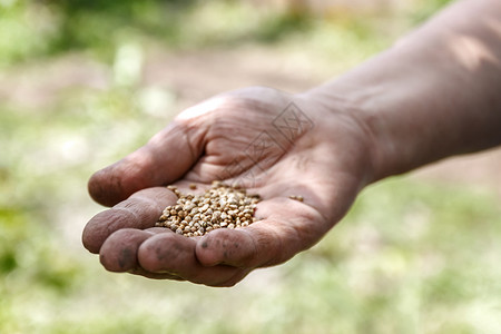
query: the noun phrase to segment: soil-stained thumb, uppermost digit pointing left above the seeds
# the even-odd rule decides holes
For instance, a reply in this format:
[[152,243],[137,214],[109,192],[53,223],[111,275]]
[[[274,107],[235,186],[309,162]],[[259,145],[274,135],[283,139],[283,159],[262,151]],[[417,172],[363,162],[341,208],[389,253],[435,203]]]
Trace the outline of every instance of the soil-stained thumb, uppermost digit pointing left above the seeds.
[[88,184],[90,196],[112,206],[140,189],[178,179],[202,154],[200,138],[195,132],[188,134],[181,122],[173,122],[146,146],[94,174]]

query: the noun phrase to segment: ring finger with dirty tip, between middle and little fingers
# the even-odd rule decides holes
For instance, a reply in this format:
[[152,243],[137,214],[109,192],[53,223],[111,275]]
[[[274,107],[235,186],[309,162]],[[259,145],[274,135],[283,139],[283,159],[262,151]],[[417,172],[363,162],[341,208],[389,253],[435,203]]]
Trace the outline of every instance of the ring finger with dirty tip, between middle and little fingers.
[[158,234],[139,246],[139,265],[149,273],[170,274],[194,283],[220,285],[232,279],[239,268],[202,266],[195,257],[197,240],[174,233]]

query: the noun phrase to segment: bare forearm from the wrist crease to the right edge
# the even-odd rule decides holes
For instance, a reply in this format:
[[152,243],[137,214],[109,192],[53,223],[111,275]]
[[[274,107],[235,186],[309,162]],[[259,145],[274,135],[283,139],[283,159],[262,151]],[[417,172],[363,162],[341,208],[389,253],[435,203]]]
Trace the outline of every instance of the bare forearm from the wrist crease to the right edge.
[[305,94],[343,100],[372,140],[373,180],[501,144],[501,1],[463,0]]

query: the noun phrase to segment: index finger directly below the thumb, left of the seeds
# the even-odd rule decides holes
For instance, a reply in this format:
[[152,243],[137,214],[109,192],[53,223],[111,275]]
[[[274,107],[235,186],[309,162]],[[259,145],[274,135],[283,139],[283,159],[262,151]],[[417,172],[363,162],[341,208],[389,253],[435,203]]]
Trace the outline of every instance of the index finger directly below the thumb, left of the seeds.
[[121,228],[145,229],[153,227],[167,205],[177,196],[166,188],[147,188],[137,191],[111,209],[94,216],[84,228],[82,244],[91,253],[99,253],[102,243]]

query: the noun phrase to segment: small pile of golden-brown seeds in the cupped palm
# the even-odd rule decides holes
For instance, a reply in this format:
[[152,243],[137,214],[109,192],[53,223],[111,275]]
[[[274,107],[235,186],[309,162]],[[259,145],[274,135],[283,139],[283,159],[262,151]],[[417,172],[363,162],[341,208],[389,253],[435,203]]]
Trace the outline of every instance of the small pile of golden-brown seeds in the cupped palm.
[[[202,195],[181,194],[168,186],[177,196],[176,205],[167,206],[156,226],[167,227],[184,236],[203,236],[217,228],[245,227],[258,220],[254,217],[259,195],[247,195],[238,186],[214,181]],[[196,185],[190,185],[196,189]]]

